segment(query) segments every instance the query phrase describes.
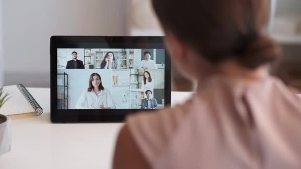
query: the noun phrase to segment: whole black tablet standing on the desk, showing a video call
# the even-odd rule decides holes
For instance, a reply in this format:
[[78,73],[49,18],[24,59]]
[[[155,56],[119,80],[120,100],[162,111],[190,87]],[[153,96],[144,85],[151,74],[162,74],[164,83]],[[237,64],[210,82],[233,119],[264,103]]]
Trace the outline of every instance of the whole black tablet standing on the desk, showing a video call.
[[51,122],[122,122],[164,109],[170,77],[162,37],[52,36]]

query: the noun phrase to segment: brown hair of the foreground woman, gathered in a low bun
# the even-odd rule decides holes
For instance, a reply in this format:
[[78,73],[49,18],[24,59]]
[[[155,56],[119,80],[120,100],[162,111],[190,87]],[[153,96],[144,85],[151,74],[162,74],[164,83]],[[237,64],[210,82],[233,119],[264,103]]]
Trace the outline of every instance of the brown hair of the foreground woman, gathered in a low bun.
[[[165,31],[212,64],[235,58],[247,68],[272,62],[277,43],[264,35],[268,0],[152,0]],[[181,11],[181,12],[180,12]]]

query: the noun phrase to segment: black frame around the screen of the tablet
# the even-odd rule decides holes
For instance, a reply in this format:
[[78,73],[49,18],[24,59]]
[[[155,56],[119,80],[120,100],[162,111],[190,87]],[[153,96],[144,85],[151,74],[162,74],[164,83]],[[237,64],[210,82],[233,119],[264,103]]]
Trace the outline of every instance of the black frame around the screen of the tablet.
[[[163,37],[52,36],[50,38],[50,120],[52,123],[122,122],[140,109],[57,109],[57,48],[164,48]],[[164,102],[170,104],[171,66],[165,50]],[[148,111],[148,110],[143,110]]]

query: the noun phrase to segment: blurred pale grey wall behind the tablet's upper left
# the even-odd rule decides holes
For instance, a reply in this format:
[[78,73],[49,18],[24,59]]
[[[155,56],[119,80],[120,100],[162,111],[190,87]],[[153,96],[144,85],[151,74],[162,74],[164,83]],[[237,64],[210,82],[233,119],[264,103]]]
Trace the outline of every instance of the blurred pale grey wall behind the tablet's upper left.
[[50,86],[52,35],[126,33],[126,0],[3,0],[2,13],[5,85]]

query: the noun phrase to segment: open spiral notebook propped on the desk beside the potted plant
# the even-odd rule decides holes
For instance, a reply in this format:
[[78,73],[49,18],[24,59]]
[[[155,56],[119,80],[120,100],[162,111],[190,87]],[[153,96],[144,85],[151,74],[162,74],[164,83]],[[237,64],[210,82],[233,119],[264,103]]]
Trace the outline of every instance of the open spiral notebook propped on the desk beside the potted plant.
[[9,93],[9,99],[0,108],[0,114],[11,119],[19,119],[38,116],[43,113],[43,108],[23,84],[4,86],[3,91]]

